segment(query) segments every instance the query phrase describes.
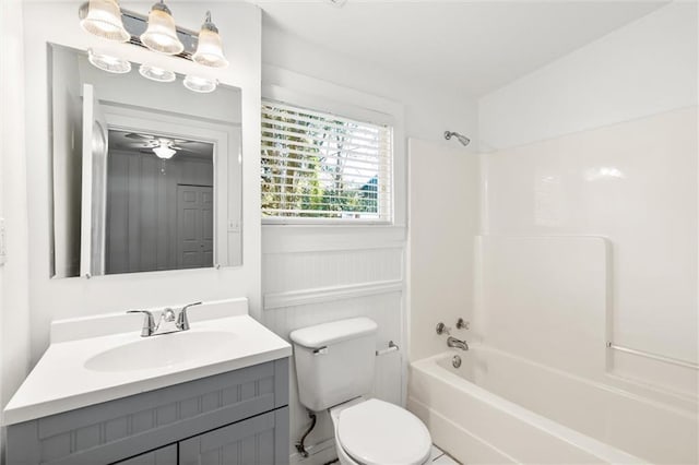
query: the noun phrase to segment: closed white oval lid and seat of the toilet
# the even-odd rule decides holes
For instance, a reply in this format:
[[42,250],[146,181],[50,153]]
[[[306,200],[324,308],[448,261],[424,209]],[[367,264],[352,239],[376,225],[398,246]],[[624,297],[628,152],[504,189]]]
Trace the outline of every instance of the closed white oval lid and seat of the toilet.
[[337,441],[364,465],[417,465],[429,458],[431,439],[410,412],[371,398],[344,408],[337,418]]

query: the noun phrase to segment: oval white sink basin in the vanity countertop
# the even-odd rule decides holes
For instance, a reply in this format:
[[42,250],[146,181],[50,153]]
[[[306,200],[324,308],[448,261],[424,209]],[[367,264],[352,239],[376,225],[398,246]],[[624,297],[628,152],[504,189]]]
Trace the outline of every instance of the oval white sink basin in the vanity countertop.
[[230,332],[186,331],[143,337],[100,351],[87,360],[92,371],[133,371],[187,363],[215,353],[233,350],[236,336]]

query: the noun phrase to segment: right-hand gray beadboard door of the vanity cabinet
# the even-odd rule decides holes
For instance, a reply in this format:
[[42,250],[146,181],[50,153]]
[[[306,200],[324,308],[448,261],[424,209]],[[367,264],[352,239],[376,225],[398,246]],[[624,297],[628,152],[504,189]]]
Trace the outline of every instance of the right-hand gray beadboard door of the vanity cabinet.
[[249,418],[179,443],[180,465],[288,463],[288,407]]

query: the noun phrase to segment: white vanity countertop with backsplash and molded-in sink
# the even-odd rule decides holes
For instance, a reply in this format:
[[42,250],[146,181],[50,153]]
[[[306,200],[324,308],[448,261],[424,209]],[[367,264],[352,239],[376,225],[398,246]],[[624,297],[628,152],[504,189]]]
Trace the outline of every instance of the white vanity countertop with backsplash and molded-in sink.
[[[55,322],[50,346],[4,409],[5,425],[292,355],[285,341],[248,315],[247,299],[190,308],[188,331],[145,338],[142,321],[141,314],[111,313]],[[106,329],[111,333],[106,334]],[[134,343],[144,353],[129,350]],[[151,343],[157,345],[157,353],[147,351]],[[198,345],[197,356],[180,361],[178,356],[187,356],[188,344]],[[110,354],[120,357],[110,358]],[[95,367],[95,356],[120,366]],[[129,366],[130,360],[137,368]]]

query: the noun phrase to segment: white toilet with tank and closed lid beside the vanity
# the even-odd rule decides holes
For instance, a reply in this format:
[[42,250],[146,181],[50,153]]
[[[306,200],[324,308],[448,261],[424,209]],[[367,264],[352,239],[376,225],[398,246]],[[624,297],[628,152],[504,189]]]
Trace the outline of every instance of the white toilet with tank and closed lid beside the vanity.
[[329,410],[343,465],[422,465],[431,438],[413,414],[368,394],[374,384],[377,324],[353,318],[296,330],[296,378],[301,404]]

